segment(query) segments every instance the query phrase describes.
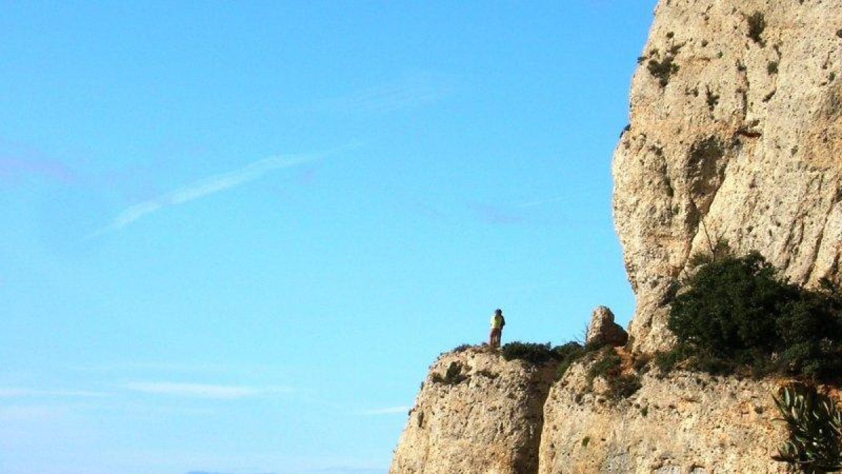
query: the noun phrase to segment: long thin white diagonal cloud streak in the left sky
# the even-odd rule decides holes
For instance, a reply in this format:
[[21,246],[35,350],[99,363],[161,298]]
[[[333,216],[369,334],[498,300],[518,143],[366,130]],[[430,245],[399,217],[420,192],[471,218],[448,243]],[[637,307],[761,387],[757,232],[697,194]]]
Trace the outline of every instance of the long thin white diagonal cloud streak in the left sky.
[[248,181],[256,180],[261,176],[275,170],[283,170],[299,164],[310,163],[333,152],[322,154],[293,154],[275,156],[261,159],[248,164],[238,170],[213,175],[205,179],[196,180],[187,186],[153,197],[144,202],[139,202],[131,207],[123,209],[111,223],[102,229],[97,230],[90,237],[96,237],[109,231],[122,229],[135,222],[137,219],[155,213],[165,207],[178,206],[185,202],[195,201],[200,197],[210,196],[220,191],[225,191],[237,186],[242,186]]

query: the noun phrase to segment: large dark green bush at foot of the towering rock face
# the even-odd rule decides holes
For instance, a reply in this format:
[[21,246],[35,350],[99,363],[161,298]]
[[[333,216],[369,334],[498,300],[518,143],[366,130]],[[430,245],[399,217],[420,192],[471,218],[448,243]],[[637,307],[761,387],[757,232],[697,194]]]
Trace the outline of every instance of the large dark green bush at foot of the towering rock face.
[[669,329],[678,345],[656,364],[754,375],[780,373],[812,380],[838,376],[842,356],[842,294],[823,283],[810,290],[788,283],[757,252],[734,256],[717,247],[696,256],[675,296]]

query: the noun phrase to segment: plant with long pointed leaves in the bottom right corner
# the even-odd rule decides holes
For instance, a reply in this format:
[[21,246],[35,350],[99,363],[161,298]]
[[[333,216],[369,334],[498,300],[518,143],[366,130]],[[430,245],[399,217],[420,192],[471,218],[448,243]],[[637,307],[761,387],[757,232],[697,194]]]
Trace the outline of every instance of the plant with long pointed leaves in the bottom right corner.
[[842,413],[814,386],[793,385],[773,396],[789,439],[772,456],[809,474],[842,469]]

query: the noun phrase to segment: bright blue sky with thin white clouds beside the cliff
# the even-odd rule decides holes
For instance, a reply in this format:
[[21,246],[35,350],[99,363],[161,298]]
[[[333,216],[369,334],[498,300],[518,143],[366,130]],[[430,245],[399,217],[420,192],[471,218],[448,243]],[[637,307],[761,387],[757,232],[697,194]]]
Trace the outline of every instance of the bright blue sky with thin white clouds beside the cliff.
[[0,3],[0,471],[386,471],[441,352],[633,310],[653,2]]

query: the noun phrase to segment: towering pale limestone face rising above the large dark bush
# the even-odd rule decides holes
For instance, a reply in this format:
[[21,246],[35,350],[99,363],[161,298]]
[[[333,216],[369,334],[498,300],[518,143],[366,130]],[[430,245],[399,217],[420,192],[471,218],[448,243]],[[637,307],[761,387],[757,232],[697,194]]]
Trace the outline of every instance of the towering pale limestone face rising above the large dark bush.
[[839,281],[842,0],[661,0],[614,161],[634,348],[671,343],[671,283],[718,239]]

